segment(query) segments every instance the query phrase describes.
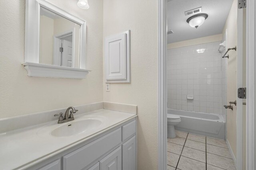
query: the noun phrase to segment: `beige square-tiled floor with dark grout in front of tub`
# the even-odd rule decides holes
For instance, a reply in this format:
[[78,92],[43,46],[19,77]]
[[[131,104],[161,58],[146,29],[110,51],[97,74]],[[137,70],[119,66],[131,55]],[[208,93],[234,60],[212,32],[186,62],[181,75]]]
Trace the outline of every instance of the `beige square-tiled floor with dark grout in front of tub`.
[[167,140],[167,170],[236,170],[225,141],[181,131]]

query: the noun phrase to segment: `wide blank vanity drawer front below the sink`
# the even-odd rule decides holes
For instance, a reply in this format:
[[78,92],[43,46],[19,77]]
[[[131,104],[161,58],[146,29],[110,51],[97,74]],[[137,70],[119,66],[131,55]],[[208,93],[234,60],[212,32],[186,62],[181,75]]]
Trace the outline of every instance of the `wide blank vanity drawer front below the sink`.
[[64,170],[81,170],[121,143],[121,128],[63,156]]

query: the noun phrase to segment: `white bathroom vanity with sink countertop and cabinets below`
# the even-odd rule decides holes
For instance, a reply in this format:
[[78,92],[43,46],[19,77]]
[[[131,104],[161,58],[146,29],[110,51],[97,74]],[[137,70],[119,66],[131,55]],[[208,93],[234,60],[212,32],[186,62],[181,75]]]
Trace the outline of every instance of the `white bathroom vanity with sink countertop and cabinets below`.
[[55,117],[51,122],[2,133],[1,168],[136,170],[136,117],[99,109],[74,115],[75,120],[66,123],[58,124]]

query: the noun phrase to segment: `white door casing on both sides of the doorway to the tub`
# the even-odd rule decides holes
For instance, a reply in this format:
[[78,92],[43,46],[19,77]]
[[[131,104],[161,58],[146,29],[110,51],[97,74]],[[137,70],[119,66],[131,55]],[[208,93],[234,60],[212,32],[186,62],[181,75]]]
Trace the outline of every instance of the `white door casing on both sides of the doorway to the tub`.
[[[158,169],[166,170],[166,0],[158,0]],[[256,168],[256,2],[246,0],[246,170]],[[239,125],[240,126],[240,125]],[[239,140],[240,141],[240,140]],[[241,152],[240,149],[238,152]],[[241,164],[241,162],[239,163]],[[240,165],[239,165],[240,167]]]

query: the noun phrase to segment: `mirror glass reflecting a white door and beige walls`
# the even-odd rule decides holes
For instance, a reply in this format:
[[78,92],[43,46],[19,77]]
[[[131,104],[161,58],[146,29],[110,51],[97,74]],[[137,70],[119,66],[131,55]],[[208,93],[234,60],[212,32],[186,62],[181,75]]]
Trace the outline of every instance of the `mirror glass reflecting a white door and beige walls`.
[[39,63],[79,68],[80,25],[40,7]]

